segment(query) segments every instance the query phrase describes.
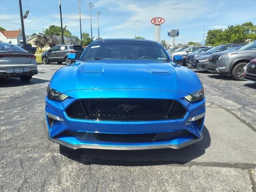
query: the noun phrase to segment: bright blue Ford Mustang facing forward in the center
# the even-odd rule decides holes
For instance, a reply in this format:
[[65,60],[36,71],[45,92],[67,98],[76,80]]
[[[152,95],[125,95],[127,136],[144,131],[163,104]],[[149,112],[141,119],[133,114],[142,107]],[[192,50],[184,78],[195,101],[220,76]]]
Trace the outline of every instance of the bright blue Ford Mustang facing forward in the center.
[[202,139],[204,88],[157,42],[104,39],[60,68],[46,95],[48,138],[69,148],[182,148]]

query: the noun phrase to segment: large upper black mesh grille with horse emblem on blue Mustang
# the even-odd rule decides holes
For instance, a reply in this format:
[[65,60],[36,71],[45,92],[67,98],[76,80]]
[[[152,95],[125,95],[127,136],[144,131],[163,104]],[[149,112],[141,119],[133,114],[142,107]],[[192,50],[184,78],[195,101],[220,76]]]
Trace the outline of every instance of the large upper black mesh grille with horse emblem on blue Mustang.
[[71,118],[109,121],[177,119],[186,114],[186,110],[173,100],[130,98],[78,100],[66,112]]

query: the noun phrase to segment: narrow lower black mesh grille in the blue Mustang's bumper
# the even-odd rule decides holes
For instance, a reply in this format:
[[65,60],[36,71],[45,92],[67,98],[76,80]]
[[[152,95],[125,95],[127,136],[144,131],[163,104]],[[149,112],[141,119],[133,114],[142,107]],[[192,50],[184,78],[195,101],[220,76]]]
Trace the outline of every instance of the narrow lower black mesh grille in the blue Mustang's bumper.
[[104,134],[97,133],[95,137],[100,141],[110,142],[150,142],[153,141],[156,133],[145,134]]

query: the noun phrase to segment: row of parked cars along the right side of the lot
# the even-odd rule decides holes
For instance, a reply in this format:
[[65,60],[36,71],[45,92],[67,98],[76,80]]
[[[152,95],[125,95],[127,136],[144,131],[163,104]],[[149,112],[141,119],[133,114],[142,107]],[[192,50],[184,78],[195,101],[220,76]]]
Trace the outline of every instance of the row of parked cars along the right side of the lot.
[[[186,52],[186,50],[189,49],[186,48],[183,51]],[[251,61],[256,58],[256,41],[247,45],[227,44],[205,50],[199,49],[188,54],[185,64],[182,62],[182,65],[193,66],[197,70],[222,76],[232,76],[235,80],[254,81],[256,78],[255,60]],[[174,55],[180,55],[184,58],[183,52],[172,52],[171,57]],[[246,65],[249,72],[246,71]],[[246,74],[248,76],[245,78]]]

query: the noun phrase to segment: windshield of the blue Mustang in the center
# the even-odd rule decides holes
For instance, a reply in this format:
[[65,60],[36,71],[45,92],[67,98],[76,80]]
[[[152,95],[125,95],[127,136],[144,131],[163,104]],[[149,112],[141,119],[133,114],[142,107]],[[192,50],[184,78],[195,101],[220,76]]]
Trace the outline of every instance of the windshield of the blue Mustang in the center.
[[81,56],[81,60],[101,59],[170,61],[159,44],[131,40],[96,41]]

